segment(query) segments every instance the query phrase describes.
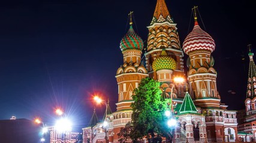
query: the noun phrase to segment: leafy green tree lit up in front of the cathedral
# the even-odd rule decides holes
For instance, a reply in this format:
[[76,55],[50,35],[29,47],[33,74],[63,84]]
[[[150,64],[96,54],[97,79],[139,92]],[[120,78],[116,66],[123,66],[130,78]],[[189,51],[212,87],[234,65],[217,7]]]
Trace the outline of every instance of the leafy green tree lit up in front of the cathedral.
[[126,135],[133,142],[142,138],[147,138],[150,142],[161,142],[161,136],[167,136],[166,118],[163,114],[170,101],[161,98],[161,94],[159,82],[149,77],[141,80],[132,96],[134,102],[131,104],[131,123],[125,126],[127,129],[121,130],[124,138]]

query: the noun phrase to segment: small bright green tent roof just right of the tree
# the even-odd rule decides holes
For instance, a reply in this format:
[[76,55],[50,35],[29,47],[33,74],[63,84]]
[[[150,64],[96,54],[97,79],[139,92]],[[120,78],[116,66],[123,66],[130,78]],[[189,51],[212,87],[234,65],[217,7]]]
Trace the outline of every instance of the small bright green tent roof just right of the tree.
[[182,105],[179,110],[180,114],[184,113],[197,113],[197,108],[195,108],[195,104],[192,101],[190,95],[188,92],[186,92],[186,95],[184,97],[184,100],[182,102]]

